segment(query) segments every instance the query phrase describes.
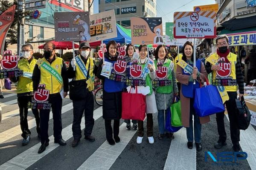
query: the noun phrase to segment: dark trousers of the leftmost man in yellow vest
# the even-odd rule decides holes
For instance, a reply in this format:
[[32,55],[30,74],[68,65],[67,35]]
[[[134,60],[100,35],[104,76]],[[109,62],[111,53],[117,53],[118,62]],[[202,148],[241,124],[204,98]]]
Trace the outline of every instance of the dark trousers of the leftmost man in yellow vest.
[[[26,138],[26,136],[30,136],[31,132],[29,130],[29,125],[28,125],[28,103],[32,102],[32,96],[20,96],[17,98],[18,101],[18,106],[20,109],[20,129],[22,131],[21,136],[23,138]],[[40,118],[39,118],[39,113],[37,109],[32,109],[32,113],[35,116],[35,122],[36,122],[36,131],[38,134],[40,134]]]

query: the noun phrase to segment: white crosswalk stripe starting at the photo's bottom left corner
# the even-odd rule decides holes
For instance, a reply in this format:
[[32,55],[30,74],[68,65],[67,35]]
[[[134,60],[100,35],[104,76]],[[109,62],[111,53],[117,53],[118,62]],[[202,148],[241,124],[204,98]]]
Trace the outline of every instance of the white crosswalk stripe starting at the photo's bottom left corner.
[[[95,111],[93,111],[93,118],[99,119],[102,116],[102,107],[97,108]],[[85,127],[84,125],[84,117],[81,121],[81,129]],[[68,140],[72,137],[72,124],[68,125],[64,129],[62,129],[62,138],[64,140]],[[2,164],[0,166],[0,170],[25,170],[32,164],[34,164],[39,159],[46,156],[48,153],[50,153],[52,150],[57,148],[59,144],[54,143],[54,137],[53,135],[49,137],[49,146],[46,148],[46,150],[38,154],[38,149],[41,146],[41,143],[36,144],[35,146],[29,148],[28,150],[24,151],[23,153],[20,153],[18,156],[15,156],[13,159],[7,161],[6,163]],[[68,146],[66,146],[68,147]]]

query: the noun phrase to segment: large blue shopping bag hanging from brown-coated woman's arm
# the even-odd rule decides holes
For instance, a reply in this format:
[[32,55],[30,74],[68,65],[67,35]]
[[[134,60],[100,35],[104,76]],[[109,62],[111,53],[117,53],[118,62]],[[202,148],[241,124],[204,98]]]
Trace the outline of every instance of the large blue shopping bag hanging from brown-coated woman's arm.
[[200,117],[225,111],[217,87],[209,85],[209,83],[206,86],[195,89],[194,108],[196,114]]

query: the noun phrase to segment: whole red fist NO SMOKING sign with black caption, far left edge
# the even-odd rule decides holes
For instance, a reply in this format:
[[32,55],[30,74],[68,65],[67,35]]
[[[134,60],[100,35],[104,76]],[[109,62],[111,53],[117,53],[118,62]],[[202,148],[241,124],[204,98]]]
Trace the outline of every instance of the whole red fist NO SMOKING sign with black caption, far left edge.
[[2,70],[0,70],[0,79],[13,78],[23,76],[23,70],[17,68],[18,57],[12,55],[11,50],[3,52],[3,59],[1,60]]

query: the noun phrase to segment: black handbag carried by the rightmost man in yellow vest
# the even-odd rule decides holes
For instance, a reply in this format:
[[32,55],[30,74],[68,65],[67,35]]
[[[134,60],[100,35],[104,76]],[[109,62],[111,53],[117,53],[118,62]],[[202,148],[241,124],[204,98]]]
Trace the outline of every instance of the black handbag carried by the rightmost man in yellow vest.
[[246,130],[249,127],[251,114],[244,102],[243,96],[241,98],[241,101],[239,99],[236,99],[236,118],[238,128],[240,130]]

